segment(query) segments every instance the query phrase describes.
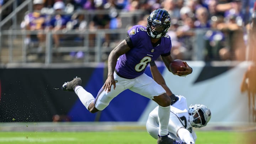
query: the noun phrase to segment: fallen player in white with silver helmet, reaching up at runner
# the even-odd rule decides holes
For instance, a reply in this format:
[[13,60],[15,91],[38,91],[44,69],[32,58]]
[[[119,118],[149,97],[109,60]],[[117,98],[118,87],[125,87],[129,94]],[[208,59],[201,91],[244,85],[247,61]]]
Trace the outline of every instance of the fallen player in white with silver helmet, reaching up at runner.
[[[167,95],[174,99],[170,107],[171,113],[168,125],[169,137],[181,140],[187,144],[195,144],[197,137],[192,127],[201,128],[207,125],[211,118],[209,108],[204,105],[196,104],[191,105],[188,109],[186,98],[172,94],[154,62],[150,63],[150,70],[154,80],[164,87]],[[153,138],[158,138],[158,106],[150,112],[148,121],[146,122],[146,129]]]

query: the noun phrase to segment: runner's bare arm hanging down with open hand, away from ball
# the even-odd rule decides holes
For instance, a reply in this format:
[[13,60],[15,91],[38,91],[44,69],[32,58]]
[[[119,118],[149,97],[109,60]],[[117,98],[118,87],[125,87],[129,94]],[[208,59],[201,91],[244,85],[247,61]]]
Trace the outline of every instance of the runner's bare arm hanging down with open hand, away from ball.
[[102,89],[105,89],[105,91],[110,92],[112,85],[114,86],[114,89],[116,88],[116,82],[114,80],[114,69],[116,67],[117,59],[120,55],[128,52],[129,50],[130,47],[124,39],[110,52],[110,55],[108,56],[108,76],[102,87]]

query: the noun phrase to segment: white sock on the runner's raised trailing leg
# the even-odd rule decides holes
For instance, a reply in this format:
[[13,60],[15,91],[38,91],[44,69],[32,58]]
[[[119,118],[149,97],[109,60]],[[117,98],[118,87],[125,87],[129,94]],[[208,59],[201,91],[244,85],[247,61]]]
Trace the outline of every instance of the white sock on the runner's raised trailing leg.
[[75,93],[76,95],[78,95],[80,101],[88,110],[90,103],[94,102],[95,100],[92,94],[90,92],[87,92],[82,86],[76,86]]

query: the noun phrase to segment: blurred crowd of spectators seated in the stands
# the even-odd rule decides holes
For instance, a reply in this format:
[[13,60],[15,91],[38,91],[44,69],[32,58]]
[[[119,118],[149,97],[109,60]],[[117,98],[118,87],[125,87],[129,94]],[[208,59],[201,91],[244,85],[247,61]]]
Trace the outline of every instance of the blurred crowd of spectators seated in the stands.
[[[171,53],[175,59],[192,60],[196,37],[203,30],[199,38],[204,60],[245,60],[248,27],[255,7],[255,0],[33,0],[33,12],[26,14],[21,28],[38,32],[38,51],[44,52],[46,36],[42,31],[128,29],[130,26],[122,23],[119,14],[136,11],[142,14],[133,24],[146,27],[149,14],[163,8],[172,19],[167,34],[172,39]],[[79,13],[81,10],[95,14],[85,17]],[[102,46],[109,47],[116,37],[105,34]],[[64,38],[64,34],[53,34],[54,48]],[[95,34],[90,34],[89,46],[95,46],[95,38]],[[28,35],[25,43],[31,41]]]

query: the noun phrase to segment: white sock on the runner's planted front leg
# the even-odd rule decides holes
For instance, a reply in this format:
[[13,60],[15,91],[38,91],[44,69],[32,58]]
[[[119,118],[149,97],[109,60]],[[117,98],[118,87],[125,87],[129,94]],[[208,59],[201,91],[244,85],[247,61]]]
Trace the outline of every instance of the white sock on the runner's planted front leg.
[[159,135],[164,136],[168,134],[168,124],[170,119],[170,106],[158,108],[158,120],[159,120]]

